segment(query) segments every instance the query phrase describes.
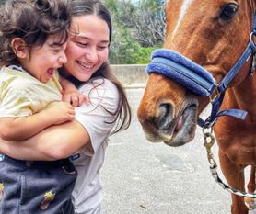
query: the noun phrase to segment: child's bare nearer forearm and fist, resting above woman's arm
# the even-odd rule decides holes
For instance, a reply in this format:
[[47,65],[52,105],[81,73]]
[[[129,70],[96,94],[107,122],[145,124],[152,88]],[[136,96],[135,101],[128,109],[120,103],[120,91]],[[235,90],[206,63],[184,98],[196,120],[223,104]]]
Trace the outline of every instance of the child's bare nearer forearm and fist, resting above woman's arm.
[[54,102],[41,112],[22,118],[0,118],[0,138],[5,141],[28,139],[47,127],[71,121],[74,107],[66,102]]

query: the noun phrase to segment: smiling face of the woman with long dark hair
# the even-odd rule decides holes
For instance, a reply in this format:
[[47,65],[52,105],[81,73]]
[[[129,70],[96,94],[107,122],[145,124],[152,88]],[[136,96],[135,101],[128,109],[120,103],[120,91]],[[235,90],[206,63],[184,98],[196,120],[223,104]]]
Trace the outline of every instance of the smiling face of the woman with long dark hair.
[[95,15],[73,17],[71,39],[67,42],[64,72],[85,82],[108,60],[110,29]]

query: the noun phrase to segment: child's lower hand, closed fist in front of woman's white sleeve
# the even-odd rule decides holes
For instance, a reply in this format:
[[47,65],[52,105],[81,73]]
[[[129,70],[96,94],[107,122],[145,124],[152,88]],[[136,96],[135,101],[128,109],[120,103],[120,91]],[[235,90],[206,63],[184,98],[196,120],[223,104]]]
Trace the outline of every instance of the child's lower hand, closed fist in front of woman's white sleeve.
[[52,102],[43,111],[52,119],[52,125],[62,124],[75,118],[74,107],[66,102]]

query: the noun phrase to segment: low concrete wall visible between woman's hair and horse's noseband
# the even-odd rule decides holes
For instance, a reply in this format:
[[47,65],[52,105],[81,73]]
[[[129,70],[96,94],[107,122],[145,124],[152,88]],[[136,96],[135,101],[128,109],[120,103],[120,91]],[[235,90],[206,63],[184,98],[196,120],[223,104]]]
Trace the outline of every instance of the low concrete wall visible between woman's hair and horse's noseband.
[[145,64],[111,64],[111,70],[125,87],[144,87],[147,80]]

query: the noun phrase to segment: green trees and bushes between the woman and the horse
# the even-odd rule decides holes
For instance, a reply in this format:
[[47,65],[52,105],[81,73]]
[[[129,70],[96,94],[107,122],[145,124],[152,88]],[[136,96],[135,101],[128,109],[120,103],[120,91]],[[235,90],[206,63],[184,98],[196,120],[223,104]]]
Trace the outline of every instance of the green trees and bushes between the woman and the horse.
[[151,52],[162,46],[164,0],[104,0],[111,12],[112,64],[150,62]]

